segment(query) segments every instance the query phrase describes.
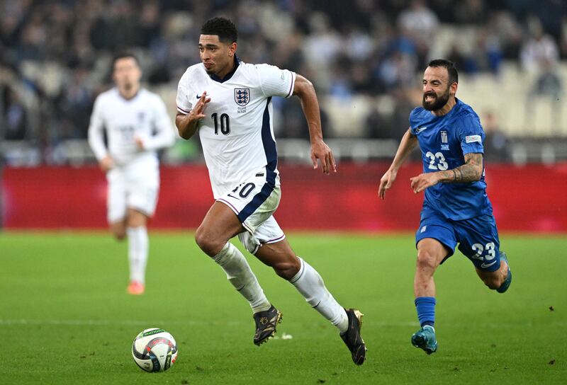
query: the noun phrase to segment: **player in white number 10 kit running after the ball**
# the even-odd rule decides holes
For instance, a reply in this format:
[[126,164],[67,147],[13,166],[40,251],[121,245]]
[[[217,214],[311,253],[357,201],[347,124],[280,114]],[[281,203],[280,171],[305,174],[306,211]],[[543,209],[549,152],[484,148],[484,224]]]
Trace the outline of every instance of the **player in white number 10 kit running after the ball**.
[[270,304],[244,255],[230,243],[238,236],[247,251],[291,282],[306,301],[339,329],[355,364],[363,364],[360,311],[344,309],[319,273],[293,252],[276,219],[280,181],[272,130],[271,98],[296,95],[307,118],[313,167],[335,172],[332,151],[323,142],[315,88],[303,76],[236,57],[237,30],[226,18],[201,28],[201,63],[179,81],[176,126],[184,139],[201,138],[215,202],[196,231],[196,243],[249,301],[256,323],[254,343],[276,332],[281,312]]

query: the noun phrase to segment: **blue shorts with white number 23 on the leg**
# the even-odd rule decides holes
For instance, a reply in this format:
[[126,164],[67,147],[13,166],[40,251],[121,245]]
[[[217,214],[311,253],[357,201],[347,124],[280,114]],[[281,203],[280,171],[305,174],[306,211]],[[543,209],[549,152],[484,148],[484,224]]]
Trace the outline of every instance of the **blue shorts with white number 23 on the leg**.
[[466,255],[476,268],[484,271],[496,271],[500,268],[500,240],[493,215],[453,221],[446,219],[431,209],[421,213],[420,228],[415,233],[415,245],[425,238],[437,241],[449,248],[449,254],[442,263],[455,252]]

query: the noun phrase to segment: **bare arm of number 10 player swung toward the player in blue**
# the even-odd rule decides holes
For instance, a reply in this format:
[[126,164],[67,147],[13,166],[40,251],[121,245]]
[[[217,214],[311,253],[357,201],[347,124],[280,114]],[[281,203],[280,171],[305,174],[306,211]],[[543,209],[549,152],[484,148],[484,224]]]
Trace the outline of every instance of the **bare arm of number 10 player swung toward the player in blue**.
[[317,100],[317,93],[315,93],[313,83],[297,74],[293,95],[298,96],[299,100],[301,100],[301,108],[303,108],[303,114],[309,127],[313,168],[318,168],[317,160],[319,159],[323,173],[327,175],[331,171],[336,173],[335,157],[332,155],[330,147],[323,142],[319,101]]

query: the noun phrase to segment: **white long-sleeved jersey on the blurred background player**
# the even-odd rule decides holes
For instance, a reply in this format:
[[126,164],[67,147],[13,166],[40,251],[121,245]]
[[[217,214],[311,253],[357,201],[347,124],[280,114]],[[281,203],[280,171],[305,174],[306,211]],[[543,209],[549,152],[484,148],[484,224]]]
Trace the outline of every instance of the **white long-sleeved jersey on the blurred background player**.
[[[108,148],[103,140],[105,128]],[[137,147],[136,137],[142,139],[143,150]],[[136,96],[125,99],[117,88],[111,88],[96,98],[89,144],[99,161],[108,154],[117,166],[145,159],[157,164],[156,150],[172,146],[174,140],[172,121],[157,94],[141,88]]]

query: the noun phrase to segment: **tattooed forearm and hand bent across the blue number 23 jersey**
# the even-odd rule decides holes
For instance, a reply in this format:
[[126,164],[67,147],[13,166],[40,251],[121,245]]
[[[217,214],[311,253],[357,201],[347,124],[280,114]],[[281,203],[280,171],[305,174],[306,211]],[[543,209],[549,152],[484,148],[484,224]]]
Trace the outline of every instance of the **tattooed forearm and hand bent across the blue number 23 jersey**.
[[465,163],[447,171],[437,173],[422,173],[411,178],[411,186],[414,193],[420,193],[437,183],[469,183],[476,182],[483,175],[483,154],[469,153],[465,155]]

